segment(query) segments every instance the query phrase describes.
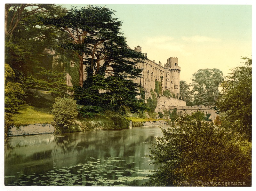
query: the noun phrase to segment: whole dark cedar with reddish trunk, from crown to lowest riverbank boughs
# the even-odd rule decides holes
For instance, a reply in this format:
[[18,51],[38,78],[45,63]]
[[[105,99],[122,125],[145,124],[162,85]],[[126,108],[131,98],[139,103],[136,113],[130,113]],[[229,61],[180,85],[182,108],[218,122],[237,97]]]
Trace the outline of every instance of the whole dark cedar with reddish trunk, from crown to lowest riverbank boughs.
[[106,109],[122,113],[124,108],[132,112],[144,108],[136,99],[139,86],[131,79],[141,76],[141,69],[135,65],[146,57],[128,48],[120,32],[122,22],[113,15],[114,11],[106,7],[88,6],[44,20],[67,31],[70,41],[63,47],[79,57],[80,87],[75,88],[75,99],[82,115]]

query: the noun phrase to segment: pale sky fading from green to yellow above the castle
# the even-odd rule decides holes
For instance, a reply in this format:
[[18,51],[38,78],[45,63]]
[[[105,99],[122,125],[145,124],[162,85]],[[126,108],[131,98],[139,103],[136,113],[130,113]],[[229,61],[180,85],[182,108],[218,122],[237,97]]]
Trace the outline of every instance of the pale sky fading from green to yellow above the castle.
[[243,65],[241,57],[252,58],[252,4],[246,1],[226,5],[104,2],[91,4],[116,11],[113,17],[123,22],[121,31],[129,47],[141,46],[149,60],[163,65],[168,58],[178,57],[180,80],[188,84],[199,69],[218,68],[227,76],[230,68]]

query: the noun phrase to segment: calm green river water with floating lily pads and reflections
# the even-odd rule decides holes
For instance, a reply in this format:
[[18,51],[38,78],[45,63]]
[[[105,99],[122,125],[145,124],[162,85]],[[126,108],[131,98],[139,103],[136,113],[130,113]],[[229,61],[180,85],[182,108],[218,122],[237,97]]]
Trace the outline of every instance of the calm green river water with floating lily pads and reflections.
[[[168,125],[161,125],[167,127]],[[6,186],[140,186],[157,165],[145,155],[159,126],[10,137]]]

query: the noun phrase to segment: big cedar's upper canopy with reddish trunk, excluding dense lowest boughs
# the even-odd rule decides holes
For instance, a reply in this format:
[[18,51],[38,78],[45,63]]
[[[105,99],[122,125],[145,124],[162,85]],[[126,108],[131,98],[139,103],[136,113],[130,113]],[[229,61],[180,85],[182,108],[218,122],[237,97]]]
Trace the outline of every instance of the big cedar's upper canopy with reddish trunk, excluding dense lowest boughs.
[[63,44],[63,48],[74,51],[79,57],[81,87],[84,80],[84,64],[88,67],[87,77],[108,74],[135,78],[141,75],[141,69],[133,66],[145,57],[127,48],[125,38],[119,31],[122,23],[113,18],[113,14],[114,11],[107,7],[90,5],[81,9],[72,8],[63,17],[44,20],[45,23],[67,32],[70,41]]

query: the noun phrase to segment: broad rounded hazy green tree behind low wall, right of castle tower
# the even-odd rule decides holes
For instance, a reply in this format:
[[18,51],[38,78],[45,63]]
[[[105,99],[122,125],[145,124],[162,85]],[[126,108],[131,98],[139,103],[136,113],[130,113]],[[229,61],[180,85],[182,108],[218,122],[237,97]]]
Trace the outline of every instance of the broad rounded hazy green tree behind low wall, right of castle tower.
[[219,96],[218,87],[224,80],[223,74],[219,69],[200,69],[192,75],[194,93],[194,104],[196,105],[215,105]]

